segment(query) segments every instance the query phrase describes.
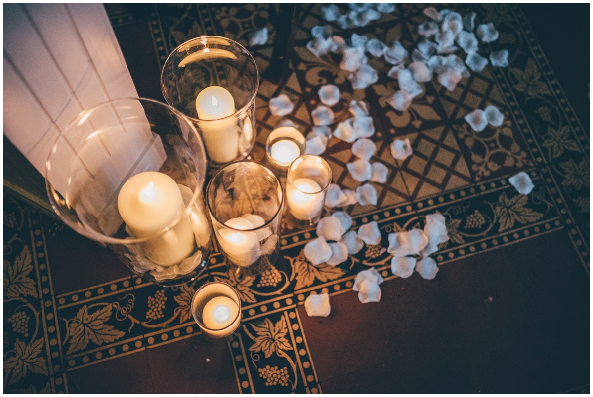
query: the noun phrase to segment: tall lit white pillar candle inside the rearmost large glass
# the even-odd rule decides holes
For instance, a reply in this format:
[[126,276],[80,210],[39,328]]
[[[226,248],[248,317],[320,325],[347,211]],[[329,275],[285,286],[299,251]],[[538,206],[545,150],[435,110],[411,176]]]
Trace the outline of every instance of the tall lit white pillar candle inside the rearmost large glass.
[[235,114],[231,93],[219,86],[203,89],[196,97],[196,112],[200,120],[212,120],[199,125],[210,159],[221,164],[235,160],[239,145],[237,121],[220,120]]

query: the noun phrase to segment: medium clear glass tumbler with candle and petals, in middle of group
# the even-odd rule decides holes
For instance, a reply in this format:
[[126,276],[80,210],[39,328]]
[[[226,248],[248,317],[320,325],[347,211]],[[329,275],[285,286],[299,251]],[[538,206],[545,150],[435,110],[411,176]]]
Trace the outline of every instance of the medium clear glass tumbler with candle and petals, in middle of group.
[[278,176],[262,164],[228,164],[212,177],[206,203],[218,246],[232,272],[255,276],[276,262],[283,198]]

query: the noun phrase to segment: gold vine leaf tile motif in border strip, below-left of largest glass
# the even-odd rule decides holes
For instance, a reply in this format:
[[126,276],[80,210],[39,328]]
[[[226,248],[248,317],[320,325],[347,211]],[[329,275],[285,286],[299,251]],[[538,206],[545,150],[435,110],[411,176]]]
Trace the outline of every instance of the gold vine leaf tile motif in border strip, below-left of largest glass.
[[126,333],[115,330],[113,325],[105,324],[111,318],[112,312],[112,304],[106,304],[91,314],[87,305],[82,306],[76,317],[67,321],[69,347],[66,354],[84,350],[89,342],[101,346],[125,336]]

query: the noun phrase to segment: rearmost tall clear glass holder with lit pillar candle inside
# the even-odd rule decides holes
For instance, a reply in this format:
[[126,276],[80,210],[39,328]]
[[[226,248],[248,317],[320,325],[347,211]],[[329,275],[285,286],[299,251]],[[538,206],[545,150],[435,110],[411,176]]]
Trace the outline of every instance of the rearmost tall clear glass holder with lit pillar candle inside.
[[243,160],[253,149],[258,88],[253,56],[225,37],[186,41],[162,67],[162,95],[197,125],[211,169]]

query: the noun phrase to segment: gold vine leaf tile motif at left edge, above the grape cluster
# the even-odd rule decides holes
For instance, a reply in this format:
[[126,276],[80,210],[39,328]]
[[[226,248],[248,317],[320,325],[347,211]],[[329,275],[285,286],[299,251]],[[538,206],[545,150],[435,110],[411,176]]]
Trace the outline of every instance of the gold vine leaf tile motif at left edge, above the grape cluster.
[[7,298],[33,296],[37,298],[37,290],[33,279],[28,274],[33,270],[31,251],[24,246],[21,254],[15,258],[14,264],[4,259],[4,277],[2,278],[3,295]]

